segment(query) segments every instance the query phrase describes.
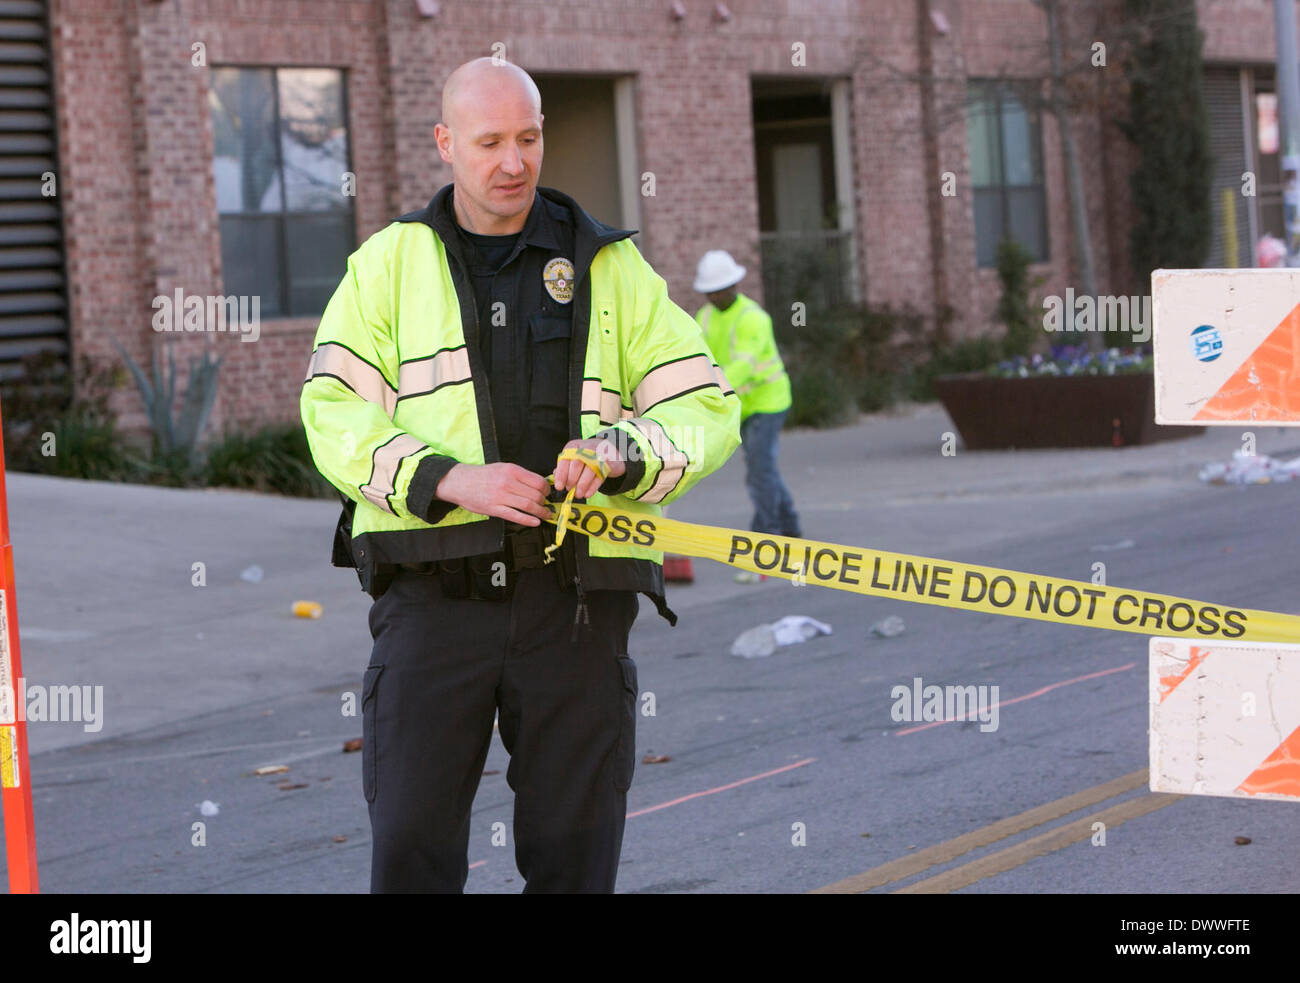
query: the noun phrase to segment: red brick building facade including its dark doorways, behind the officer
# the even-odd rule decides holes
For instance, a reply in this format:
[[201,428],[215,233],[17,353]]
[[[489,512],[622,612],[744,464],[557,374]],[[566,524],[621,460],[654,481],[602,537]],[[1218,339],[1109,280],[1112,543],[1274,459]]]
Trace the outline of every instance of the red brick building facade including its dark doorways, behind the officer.
[[[182,364],[214,347],[225,363],[212,430],[296,417],[318,315],[311,272],[302,273],[306,299],[290,304],[296,309],[289,316],[264,313],[254,343],[230,334],[159,334],[151,326],[153,299],[178,289],[198,296],[238,293],[228,267],[274,278],[268,269],[280,264],[281,277],[298,276],[285,248],[250,259],[247,248],[265,239],[260,226],[239,221],[265,220],[266,229],[298,242],[325,228],[311,225],[309,215],[290,215],[287,205],[243,218],[221,211],[221,182],[243,181],[247,191],[256,170],[246,159],[256,156],[247,124],[237,134],[246,156],[226,160],[226,172],[220,163],[214,168],[229,137],[214,122],[221,101],[214,79],[222,70],[231,85],[244,79],[239,91],[283,86],[298,78],[296,69],[337,70],[324,78],[329,86],[337,78],[342,94],[343,134],[335,135],[346,138],[352,183],[329,234],[350,235],[352,244],[422,205],[450,179],[433,135],[442,83],[463,61],[499,52],[542,86],[546,161],[556,163],[551,173],[543,164],[541,182],[567,177],[577,186],[555,185],[580,202],[590,189],[608,203],[597,217],[640,229],[638,244],[688,311],[699,303],[690,282],[705,250],[731,250],[750,269],[742,289],[762,296],[764,252],[771,269],[776,251],[803,235],[840,250],[844,282],[836,289],[928,315],[948,303],[957,313],[953,334],[989,330],[996,274],[976,255],[976,211],[985,207],[1030,235],[1041,222],[1044,260],[1036,269],[1046,290],[1076,283],[1049,116],[1024,129],[1022,114],[1004,107],[1000,146],[1028,140],[1041,157],[1018,163],[1008,152],[997,163],[1001,186],[985,189],[983,199],[972,187],[974,172],[988,161],[980,157],[972,168],[970,81],[1045,70],[1045,21],[1030,0],[49,0],[48,7],[68,328],[65,338],[40,343],[112,360],[116,337],[142,364],[159,343],[173,345]],[[1243,85],[1244,73],[1269,72],[1271,9],[1271,0],[1201,0],[1206,64],[1242,73]],[[1072,16],[1067,23],[1075,60],[1087,57],[1098,36],[1105,20]],[[1097,72],[1098,91],[1122,82],[1117,65]],[[286,99],[283,87],[277,91]],[[276,107],[292,111],[282,101]],[[552,126],[581,139],[562,146]],[[1131,153],[1105,111],[1080,113],[1074,129],[1098,289],[1140,293],[1124,255]],[[595,150],[584,157],[582,147]],[[287,200],[290,150],[281,148],[278,172],[265,164],[274,174],[260,179],[260,199],[246,195],[246,211],[264,207],[270,195]],[[954,194],[944,194],[945,173]],[[1013,181],[1013,173],[1020,177]],[[815,212],[827,202],[833,207],[819,225]],[[295,226],[299,220],[308,224]],[[238,229],[246,238],[237,242]],[[1256,225],[1247,221],[1243,229]],[[337,281],[342,272],[338,265],[330,276]],[[322,276],[316,270],[317,281]],[[299,296],[295,289],[290,283],[285,296]],[[134,389],[118,393],[116,406],[124,423],[143,423]]]

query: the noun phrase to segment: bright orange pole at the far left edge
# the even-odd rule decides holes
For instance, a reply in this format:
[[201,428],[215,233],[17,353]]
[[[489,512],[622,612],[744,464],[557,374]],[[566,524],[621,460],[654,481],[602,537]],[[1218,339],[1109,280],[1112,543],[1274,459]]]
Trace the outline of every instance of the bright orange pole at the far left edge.
[[27,767],[27,720],[18,706],[22,679],[18,654],[18,602],[9,545],[9,499],[5,493],[4,433],[0,424],[0,797],[4,800],[5,856],[9,892],[35,895],[36,828],[31,813],[31,770]]

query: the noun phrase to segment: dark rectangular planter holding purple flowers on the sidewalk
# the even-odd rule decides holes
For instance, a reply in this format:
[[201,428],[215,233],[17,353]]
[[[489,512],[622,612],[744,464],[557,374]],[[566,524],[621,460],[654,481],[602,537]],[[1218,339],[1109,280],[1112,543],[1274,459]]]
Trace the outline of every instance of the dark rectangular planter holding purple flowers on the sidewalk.
[[1150,373],[997,378],[940,376],[935,390],[970,450],[1112,447],[1204,433],[1157,426]]

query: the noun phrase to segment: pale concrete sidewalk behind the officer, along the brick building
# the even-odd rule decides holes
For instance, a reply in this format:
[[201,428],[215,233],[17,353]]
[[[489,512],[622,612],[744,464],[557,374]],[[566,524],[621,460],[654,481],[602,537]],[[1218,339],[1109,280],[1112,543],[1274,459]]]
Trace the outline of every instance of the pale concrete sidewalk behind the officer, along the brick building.
[[[844,429],[786,433],[781,469],[805,536],[989,563],[1009,536],[1082,524],[1084,540],[1105,542],[1108,520],[1127,502],[1195,492],[1197,469],[1226,460],[1242,441],[1238,429],[1210,429],[1148,447],[944,456],[952,429],[944,411],[927,404]],[[1254,432],[1260,454],[1300,446],[1300,436],[1282,428]],[[352,572],[329,566],[334,502],[30,475],[10,475],[8,490],[26,679],[103,687],[104,694],[100,729],[32,727],[32,753],[359,687],[369,598]],[[1101,511],[1098,492],[1108,493]],[[746,528],[740,455],[671,514]],[[263,580],[240,580],[254,564]],[[696,573],[694,585],[671,588],[679,611],[751,590],[720,564],[697,562]],[[320,602],[324,616],[294,618],[299,599]]]

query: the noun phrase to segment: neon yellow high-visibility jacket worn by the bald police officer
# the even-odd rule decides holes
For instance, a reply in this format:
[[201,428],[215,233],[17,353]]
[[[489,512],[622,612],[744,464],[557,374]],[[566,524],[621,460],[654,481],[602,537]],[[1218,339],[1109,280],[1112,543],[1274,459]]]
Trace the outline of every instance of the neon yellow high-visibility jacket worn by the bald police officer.
[[[355,566],[373,596],[393,564],[493,553],[503,541],[502,519],[434,495],[454,463],[499,460],[473,290],[432,225],[450,190],[348,257],[302,391],[312,458],[347,499],[334,562]],[[740,400],[699,329],[628,239],[633,233],[595,221],[559,191],[538,192],[575,218],[572,438],[623,432],[629,455],[645,464],[634,488],[589,502],[656,516],[736,450]],[[662,599],[653,537],[575,536],[575,546],[585,589]]]

